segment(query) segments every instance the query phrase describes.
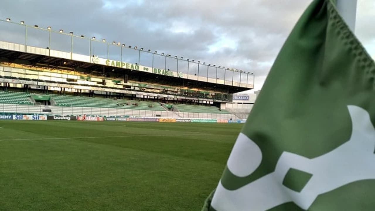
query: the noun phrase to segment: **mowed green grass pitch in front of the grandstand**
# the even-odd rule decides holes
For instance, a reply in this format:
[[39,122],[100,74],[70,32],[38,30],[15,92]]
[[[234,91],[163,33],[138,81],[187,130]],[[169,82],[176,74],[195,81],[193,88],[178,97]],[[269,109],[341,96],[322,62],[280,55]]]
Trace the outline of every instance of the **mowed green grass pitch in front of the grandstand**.
[[242,124],[0,121],[0,210],[193,211]]

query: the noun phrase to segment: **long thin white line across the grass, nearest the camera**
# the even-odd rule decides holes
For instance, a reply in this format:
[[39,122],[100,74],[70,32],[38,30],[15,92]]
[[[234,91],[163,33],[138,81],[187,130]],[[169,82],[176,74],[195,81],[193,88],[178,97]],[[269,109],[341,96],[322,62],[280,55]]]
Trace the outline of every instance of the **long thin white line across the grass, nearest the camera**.
[[127,135],[127,136],[89,136],[89,137],[66,137],[66,138],[35,138],[35,139],[0,139],[0,141],[28,141],[28,140],[64,140],[64,139],[102,139],[102,138],[122,138],[122,137],[145,137],[145,136],[204,136],[212,135],[211,133],[199,134],[157,134],[157,135]]

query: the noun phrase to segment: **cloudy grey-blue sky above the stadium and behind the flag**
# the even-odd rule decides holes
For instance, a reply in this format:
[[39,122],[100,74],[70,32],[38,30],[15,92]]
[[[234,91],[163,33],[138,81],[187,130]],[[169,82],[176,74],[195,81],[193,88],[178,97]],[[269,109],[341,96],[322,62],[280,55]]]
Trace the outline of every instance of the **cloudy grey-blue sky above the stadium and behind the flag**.
[[[2,0],[0,18],[254,72],[257,90],[309,3],[311,0]],[[358,0],[356,35],[372,57],[374,11],[375,1]],[[15,32],[2,31],[0,39],[23,36]]]

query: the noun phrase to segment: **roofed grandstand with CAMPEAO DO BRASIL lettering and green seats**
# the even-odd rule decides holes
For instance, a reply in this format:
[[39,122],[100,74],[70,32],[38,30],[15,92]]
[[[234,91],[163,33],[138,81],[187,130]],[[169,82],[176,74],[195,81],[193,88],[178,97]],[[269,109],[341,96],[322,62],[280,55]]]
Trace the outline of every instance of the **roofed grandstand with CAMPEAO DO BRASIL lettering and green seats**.
[[[25,32],[40,30],[48,42],[33,45],[26,33],[25,39],[0,41],[0,113],[244,119],[251,108],[233,104],[234,93],[254,88],[250,72],[1,21]],[[70,37],[70,51],[51,47],[51,34]],[[89,41],[80,47],[87,54],[75,52],[75,39]],[[94,52],[98,43],[107,51]],[[148,59],[141,60],[145,54]]]

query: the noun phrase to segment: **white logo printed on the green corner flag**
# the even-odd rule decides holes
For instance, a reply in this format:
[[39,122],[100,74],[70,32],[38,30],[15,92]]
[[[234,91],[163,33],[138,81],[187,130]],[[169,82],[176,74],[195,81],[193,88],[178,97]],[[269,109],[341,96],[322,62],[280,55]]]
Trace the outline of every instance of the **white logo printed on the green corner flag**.
[[[237,190],[227,190],[217,185],[211,206],[217,211],[251,210],[264,211],[286,202],[294,202],[303,209],[308,209],[318,195],[335,190],[343,185],[364,179],[375,179],[375,129],[369,113],[355,105],[349,105],[352,119],[352,135],[336,149],[316,158],[306,158],[290,152],[283,152],[275,171],[251,182]],[[243,146],[235,144],[228,159],[228,169],[236,176],[250,175],[255,166],[261,162],[258,146],[244,134],[240,134],[237,142],[247,142],[255,149],[242,150]],[[240,155],[234,155],[239,152]],[[255,156],[252,156],[252,154]],[[234,160],[233,160],[234,159]],[[246,162],[234,162],[244,160]],[[231,161],[232,160],[232,161]],[[249,161],[254,162],[249,166]],[[300,192],[285,187],[282,182],[290,168],[312,174],[311,179]]]

